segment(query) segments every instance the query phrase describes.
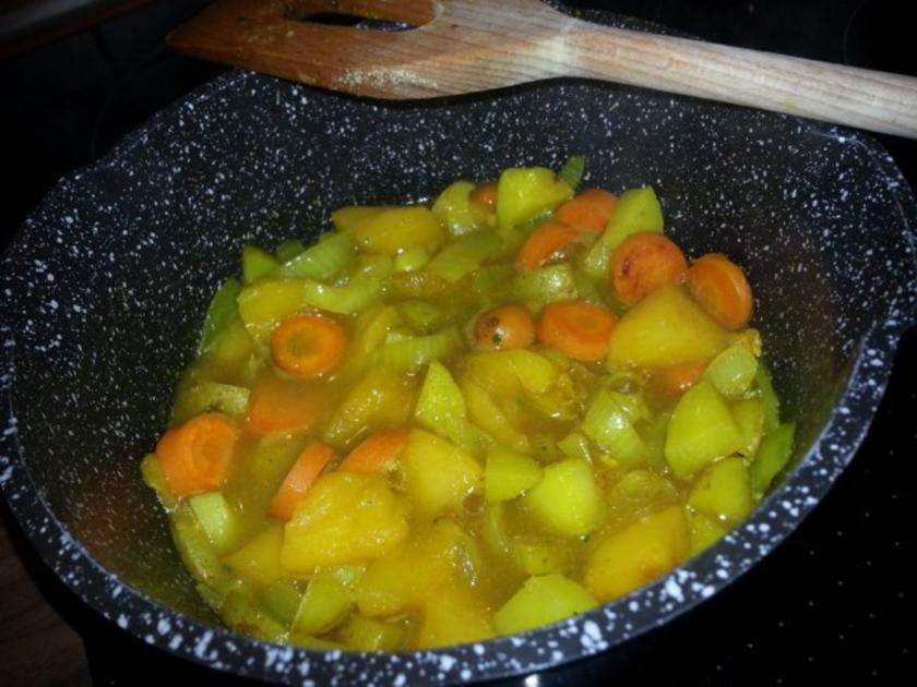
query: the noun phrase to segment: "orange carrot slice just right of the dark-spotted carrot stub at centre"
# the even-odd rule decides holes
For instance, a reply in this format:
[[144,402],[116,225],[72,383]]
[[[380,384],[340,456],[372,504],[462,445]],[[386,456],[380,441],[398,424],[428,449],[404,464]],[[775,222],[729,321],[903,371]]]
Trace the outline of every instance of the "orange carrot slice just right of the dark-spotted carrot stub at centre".
[[617,322],[615,314],[602,305],[558,301],[541,313],[538,338],[573,360],[602,360]]

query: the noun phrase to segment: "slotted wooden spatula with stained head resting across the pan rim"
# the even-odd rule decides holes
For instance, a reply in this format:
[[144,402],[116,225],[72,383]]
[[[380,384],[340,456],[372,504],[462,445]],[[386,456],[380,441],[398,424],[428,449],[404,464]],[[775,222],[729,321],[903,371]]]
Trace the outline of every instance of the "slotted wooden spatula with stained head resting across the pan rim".
[[[383,32],[322,12],[404,22]],[[180,52],[379,98],[430,98],[558,76],[917,137],[917,79],[610,28],[538,0],[219,0],[169,36]]]

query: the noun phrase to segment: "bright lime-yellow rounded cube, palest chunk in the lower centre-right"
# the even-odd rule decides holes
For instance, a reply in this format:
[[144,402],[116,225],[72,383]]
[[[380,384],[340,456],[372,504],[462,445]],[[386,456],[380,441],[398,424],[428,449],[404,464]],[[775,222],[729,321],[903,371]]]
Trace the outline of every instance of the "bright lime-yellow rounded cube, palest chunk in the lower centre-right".
[[541,481],[526,492],[522,504],[541,523],[570,537],[592,532],[603,516],[592,468],[575,458],[547,466]]

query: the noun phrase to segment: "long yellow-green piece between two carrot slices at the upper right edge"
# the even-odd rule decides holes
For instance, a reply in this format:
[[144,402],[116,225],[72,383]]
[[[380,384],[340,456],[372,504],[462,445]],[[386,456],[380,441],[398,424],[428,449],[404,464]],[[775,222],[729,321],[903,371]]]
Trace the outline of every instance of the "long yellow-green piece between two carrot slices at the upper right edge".
[[593,279],[605,279],[611,253],[630,234],[638,231],[663,230],[663,208],[652,186],[631,189],[618,196],[615,212],[605,232],[598,238],[583,261],[583,269]]

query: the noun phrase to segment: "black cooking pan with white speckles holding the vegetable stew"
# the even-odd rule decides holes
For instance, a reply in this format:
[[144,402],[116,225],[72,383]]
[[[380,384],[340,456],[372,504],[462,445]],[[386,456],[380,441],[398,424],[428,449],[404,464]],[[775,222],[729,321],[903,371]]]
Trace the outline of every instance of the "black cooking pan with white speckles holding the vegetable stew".
[[[630,25],[630,24],[628,24]],[[652,183],[692,255],[723,250],[758,296],[798,462],[738,530],[633,594],[523,636],[322,653],[223,629],[199,601],[139,461],[163,429],[210,294],[243,242],[313,236],[345,203],[588,154],[587,182]],[[266,680],[466,682],[597,652],[715,594],[785,539],[853,457],[917,311],[917,205],[871,138],[614,86],[552,83],[379,105],[235,72],[62,181],[0,272],[0,485],[60,578],[124,630]]]

